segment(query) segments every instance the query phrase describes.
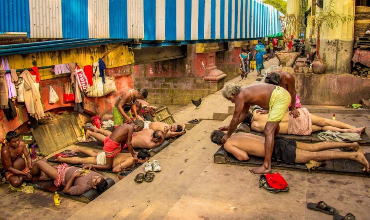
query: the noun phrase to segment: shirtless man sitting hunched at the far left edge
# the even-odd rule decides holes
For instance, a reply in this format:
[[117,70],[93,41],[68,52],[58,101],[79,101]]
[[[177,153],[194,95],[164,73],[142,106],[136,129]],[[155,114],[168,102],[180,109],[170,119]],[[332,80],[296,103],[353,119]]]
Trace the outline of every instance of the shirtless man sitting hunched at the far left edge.
[[[20,187],[24,180],[31,180],[33,177],[30,174],[32,168],[32,159],[29,156],[24,142],[19,141],[18,133],[9,131],[5,139],[7,144],[1,152],[1,161],[6,171],[5,176],[13,187]],[[27,159],[22,158],[22,155]]]

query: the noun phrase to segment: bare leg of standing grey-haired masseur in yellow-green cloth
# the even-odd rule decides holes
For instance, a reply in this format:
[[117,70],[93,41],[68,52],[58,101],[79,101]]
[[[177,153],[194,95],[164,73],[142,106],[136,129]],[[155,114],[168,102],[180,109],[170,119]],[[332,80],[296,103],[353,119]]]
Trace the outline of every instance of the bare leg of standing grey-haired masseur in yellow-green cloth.
[[250,169],[250,172],[252,173],[270,173],[271,172],[271,157],[272,157],[272,151],[274,149],[274,133],[276,132],[276,129],[279,127],[278,122],[267,122],[265,129],[264,129],[264,135],[265,135],[265,160],[264,164],[260,167],[256,167],[253,169]]

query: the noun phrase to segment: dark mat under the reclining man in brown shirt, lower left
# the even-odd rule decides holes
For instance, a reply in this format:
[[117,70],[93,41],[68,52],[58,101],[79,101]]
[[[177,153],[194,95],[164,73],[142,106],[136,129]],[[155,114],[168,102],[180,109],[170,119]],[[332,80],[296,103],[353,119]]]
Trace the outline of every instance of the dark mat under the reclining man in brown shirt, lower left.
[[[112,187],[113,185],[115,185],[115,181],[112,178],[106,178],[105,180],[108,182],[108,189]],[[77,200],[80,202],[84,202],[84,203],[91,202],[92,200],[94,200],[96,197],[98,197],[101,194],[95,189],[90,189],[84,194],[79,195],[79,196],[65,194],[63,193],[64,187],[59,187],[59,188],[55,187],[53,180],[39,181],[39,178],[35,178],[35,180],[33,180],[32,182],[29,182],[28,185],[31,185],[35,189],[42,190],[45,192],[50,192],[50,193],[58,192],[60,196],[63,196],[68,199],[73,199],[73,200]]]

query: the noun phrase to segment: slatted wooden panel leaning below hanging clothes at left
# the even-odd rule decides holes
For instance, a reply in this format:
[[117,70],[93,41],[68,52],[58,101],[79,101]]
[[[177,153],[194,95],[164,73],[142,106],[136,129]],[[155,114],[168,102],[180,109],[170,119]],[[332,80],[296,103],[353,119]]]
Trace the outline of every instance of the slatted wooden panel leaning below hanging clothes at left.
[[60,115],[57,119],[31,129],[41,152],[49,155],[75,143],[81,137],[81,129],[74,113]]

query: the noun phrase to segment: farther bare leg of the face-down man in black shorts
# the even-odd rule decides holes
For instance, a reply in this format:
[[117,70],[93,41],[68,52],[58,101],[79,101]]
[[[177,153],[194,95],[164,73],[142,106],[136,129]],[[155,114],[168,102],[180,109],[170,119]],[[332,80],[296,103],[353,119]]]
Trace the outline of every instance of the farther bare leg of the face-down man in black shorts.
[[360,145],[357,142],[345,143],[345,142],[329,142],[322,141],[318,143],[302,143],[297,142],[297,148],[305,151],[317,152],[336,148],[348,148],[353,151],[361,150]]

